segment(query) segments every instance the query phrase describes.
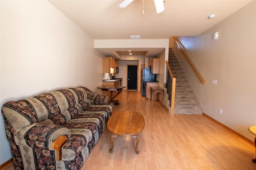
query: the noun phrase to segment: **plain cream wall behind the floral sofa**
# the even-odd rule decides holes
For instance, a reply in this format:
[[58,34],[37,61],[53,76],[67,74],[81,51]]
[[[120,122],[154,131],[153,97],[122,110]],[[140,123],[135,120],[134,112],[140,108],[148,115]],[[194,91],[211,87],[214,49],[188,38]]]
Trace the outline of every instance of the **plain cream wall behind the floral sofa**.
[[[48,1],[0,1],[0,104],[86,86],[102,94],[102,58],[94,39]],[[97,68],[97,69],[96,69]],[[0,164],[9,160],[0,116]]]

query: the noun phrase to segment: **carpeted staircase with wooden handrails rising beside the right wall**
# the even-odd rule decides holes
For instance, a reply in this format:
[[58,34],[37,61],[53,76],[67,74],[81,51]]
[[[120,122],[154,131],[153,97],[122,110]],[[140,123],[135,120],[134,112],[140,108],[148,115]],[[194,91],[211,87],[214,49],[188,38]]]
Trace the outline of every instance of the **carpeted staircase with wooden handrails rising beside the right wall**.
[[168,63],[173,76],[176,78],[174,114],[202,114],[203,109],[199,107],[196,95],[193,94],[172,48],[169,49]]

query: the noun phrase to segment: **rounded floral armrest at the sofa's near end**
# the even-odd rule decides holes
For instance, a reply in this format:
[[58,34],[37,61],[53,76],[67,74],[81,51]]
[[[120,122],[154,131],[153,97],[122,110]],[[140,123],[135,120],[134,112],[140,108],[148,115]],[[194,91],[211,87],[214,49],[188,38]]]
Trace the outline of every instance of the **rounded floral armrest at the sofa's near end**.
[[17,145],[27,145],[38,149],[54,150],[52,143],[60,136],[70,137],[70,130],[61,125],[34,123],[24,127],[14,140]]

